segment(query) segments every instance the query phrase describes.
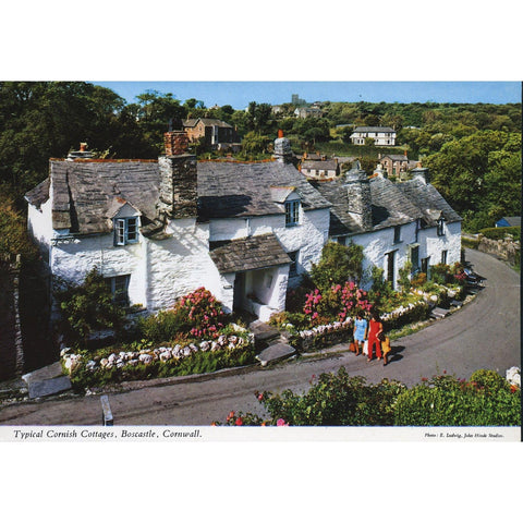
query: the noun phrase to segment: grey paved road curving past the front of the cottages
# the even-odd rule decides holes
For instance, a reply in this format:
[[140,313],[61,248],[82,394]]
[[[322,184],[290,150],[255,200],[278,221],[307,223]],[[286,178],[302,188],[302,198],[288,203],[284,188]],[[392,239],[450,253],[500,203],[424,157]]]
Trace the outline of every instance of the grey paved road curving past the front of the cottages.
[[[204,381],[173,380],[169,385],[110,393],[114,423],[210,425],[212,421],[224,421],[231,410],[264,414],[255,390],[304,391],[313,375],[337,372],[342,365],[349,374],[364,376],[372,382],[388,377],[410,386],[443,370],[469,378],[478,368],[492,368],[504,376],[507,368],[521,367],[520,275],[476,251],[467,251],[467,259],[478,273],[487,277],[485,289],[460,312],[393,342],[394,356],[387,367],[345,352],[319,361],[255,367]],[[1,425],[99,423],[97,396],[10,405],[0,411]]]

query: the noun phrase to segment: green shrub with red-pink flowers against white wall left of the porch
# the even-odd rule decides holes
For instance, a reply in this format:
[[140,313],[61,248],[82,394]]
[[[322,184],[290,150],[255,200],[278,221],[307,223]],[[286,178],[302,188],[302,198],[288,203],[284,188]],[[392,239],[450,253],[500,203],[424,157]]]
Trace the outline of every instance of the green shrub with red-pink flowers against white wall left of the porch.
[[137,327],[142,338],[161,342],[180,335],[218,338],[224,320],[221,303],[210,291],[199,288],[178,300],[171,309],[141,318]]

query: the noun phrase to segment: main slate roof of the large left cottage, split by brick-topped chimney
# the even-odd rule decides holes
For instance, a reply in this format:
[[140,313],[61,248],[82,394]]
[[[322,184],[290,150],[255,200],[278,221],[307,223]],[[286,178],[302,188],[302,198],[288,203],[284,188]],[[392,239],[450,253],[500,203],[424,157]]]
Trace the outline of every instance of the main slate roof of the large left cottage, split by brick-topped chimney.
[[[282,215],[275,194],[289,187],[301,197],[305,210],[327,208],[327,202],[292,165],[200,162],[198,220],[241,216]],[[142,214],[142,230],[158,228],[160,175],[156,160],[51,160],[52,228],[73,233],[107,233],[122,202]],[[275,187],[280,187],[281,191]],[[287,188],[283,188],[287,187]],[[49,179],[26,194],[40,207],[49,199]]]

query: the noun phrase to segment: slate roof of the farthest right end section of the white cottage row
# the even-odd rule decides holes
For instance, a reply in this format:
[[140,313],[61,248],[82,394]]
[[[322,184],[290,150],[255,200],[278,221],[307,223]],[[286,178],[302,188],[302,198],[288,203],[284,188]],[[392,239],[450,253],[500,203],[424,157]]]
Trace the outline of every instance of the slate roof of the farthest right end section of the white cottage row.
[[419,209],[427,227],[436,227],[440,216],[447,223],[462,220],[434,185],[414,178],[397,186]]

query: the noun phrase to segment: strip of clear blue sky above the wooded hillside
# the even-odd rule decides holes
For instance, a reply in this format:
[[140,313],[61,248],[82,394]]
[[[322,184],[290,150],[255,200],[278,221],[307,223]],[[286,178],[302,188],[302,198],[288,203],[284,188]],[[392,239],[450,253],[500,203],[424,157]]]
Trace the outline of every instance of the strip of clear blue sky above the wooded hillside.
[[206,107],[244,109],[251,101],[278,105],[297,94],[313,101],[516,104],[520,82],[93,82],[127,102],[146,90],[171,93],[179,100],[196,98]]

